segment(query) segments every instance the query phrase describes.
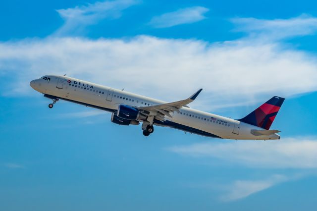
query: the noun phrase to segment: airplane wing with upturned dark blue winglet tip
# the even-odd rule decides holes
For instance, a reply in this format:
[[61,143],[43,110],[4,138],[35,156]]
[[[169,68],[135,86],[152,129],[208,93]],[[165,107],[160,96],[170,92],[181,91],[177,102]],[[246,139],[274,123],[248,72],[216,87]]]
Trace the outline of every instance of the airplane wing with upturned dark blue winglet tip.
[[143,106],[143,107],[138,107],[138,109],[147,116],[154,116],[154,118],[158,119],[159,121],[164,120],[164,116],[172,117],[172,115],[169,112],[180,112],[179,108],[183,106],[187,106],[187,104],[193,102],[199,93],[201,93],[203,89],[199,89],[194,95],[191,97],[187,98],[186,100],[182,101],[176,101],[172,103],[167,103],[167,104],[159,104],[155,106]]

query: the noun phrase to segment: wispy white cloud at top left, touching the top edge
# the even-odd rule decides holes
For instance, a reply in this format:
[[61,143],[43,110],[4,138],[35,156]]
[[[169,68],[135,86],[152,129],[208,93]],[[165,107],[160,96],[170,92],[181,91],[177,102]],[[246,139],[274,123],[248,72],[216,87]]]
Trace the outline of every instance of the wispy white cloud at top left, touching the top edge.
[[97,1],[94,4],[76,6],[74,8],[58,9],[59,15],[65,23],[60,27],[55,35],[78,34],[87,25],[96,24],[105,18],[119,18],[122,10],[139,3],[139,0],[106,0]]

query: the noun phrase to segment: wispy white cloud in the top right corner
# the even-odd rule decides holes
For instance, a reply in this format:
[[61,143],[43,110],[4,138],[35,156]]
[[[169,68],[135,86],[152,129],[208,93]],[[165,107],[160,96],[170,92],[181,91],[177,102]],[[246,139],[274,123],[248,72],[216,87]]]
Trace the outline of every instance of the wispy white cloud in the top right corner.
[[236,25],[236,31],[264,40],[312,35],[317,31],[317,18],[305,14],[290,19],[233,18],[231,21]]

